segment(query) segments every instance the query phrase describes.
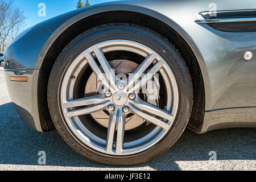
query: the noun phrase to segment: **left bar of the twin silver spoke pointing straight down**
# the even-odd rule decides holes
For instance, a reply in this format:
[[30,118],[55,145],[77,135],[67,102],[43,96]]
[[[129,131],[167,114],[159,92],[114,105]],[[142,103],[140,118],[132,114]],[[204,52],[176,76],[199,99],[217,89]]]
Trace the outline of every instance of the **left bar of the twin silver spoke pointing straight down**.
[[117,125],[117,119],[118,119],[118,109],[115,109],[114,113],[110,113],[108,138],[106,140],[106,152],[112,152],[113,150],[115,126]]

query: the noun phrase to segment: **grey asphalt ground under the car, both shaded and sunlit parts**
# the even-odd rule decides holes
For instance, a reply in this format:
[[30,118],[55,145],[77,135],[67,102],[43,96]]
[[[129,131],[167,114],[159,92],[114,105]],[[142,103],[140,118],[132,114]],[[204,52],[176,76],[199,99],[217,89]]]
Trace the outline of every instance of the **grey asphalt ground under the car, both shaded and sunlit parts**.
[[[38,152],[46,152],[46,166]],[[217,161],[208,161],[216,151]],[[0,68],[0,170],[256,170],[256,130],[226,129],[199,135],[186,130],[165,154],[134,167],[91,162],[73,151],[56,131],[37,133],[20,121]]]

